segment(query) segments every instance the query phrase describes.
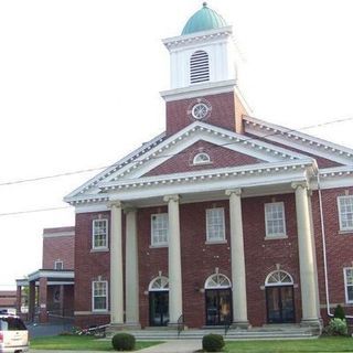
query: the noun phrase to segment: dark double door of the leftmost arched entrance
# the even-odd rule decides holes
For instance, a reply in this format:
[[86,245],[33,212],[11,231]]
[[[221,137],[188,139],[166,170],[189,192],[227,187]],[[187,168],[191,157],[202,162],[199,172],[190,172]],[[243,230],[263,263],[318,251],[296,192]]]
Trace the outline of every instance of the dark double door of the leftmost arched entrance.
[[169,291],[150,291],[150,325],[167,327],[169,322]]

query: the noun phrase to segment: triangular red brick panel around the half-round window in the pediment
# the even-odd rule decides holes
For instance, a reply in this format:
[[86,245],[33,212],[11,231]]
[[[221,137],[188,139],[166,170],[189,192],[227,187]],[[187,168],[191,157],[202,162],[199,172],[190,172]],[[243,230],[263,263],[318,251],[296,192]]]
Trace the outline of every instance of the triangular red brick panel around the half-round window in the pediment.
[[[200,152],[206,152],[210,156],[212,163],[193,165],[193,158]],[[178,153],[178,156],[170,158],[168,161],[152,169],[145,176],[246,165],[260,162],[263,161],[252,156],[235,152],[227,148],[216,146],[206,141],[197,141],[188,147],[182,152]]]

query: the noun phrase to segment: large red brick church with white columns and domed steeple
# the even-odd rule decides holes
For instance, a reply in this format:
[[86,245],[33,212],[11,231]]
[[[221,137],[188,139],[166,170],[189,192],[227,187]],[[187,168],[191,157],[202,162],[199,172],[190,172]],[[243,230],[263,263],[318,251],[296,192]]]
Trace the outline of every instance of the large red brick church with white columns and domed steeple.
[[320,328],[353,313],[353,150],[249,116],[232,26],[163,40],[165,131],[65,197],[77,324]]

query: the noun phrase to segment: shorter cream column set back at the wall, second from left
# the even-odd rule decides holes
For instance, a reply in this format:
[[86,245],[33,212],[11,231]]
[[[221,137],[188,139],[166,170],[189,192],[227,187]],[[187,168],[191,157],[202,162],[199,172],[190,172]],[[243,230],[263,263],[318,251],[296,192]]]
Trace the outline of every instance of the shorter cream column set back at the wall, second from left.
[[126,324],[139,327],[139,269],[137,244],[137,211],[126,212]]

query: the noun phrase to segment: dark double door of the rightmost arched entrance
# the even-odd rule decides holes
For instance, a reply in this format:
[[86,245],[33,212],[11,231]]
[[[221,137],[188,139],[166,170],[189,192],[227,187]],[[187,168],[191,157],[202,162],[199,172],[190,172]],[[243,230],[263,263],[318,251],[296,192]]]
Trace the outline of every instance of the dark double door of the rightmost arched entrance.
[[292,323],[295,317],[293,286],[266,288],[267,322]]

